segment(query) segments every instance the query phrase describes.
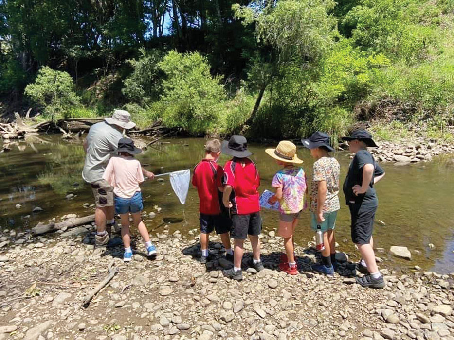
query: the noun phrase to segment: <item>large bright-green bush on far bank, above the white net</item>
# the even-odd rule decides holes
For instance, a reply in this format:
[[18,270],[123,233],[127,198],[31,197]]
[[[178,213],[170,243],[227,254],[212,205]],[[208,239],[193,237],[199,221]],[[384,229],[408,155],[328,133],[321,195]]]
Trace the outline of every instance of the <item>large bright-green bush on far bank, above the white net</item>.
[[166,75],[163,94],[152,110],[169,127],[180,126],[200,135],[219,127],[225,91],[219,77],[210,74],[207,60],[198,52],[170,51],[159,63]]

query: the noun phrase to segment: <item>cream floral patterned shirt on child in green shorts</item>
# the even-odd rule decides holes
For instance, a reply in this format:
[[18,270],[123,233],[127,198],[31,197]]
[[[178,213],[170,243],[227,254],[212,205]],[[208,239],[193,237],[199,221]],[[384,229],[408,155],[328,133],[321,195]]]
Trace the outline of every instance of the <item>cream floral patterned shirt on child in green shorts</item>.
[[314,172],[310,186],[310,211],[317,211],[318,182],[327,182],[327,198],[323,205],[323,212],[329,213],[339,210],[339,162],[334,157],[322,157],[314,162]]

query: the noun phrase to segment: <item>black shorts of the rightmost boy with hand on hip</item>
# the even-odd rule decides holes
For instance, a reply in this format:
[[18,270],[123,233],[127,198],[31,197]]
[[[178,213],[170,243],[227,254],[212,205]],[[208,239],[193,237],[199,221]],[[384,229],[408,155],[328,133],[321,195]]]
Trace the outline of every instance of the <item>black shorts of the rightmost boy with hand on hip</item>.
[[374,229],[375,212],[378,206],[348,204],[351,214],[351,239],[355,244],[369,244]]

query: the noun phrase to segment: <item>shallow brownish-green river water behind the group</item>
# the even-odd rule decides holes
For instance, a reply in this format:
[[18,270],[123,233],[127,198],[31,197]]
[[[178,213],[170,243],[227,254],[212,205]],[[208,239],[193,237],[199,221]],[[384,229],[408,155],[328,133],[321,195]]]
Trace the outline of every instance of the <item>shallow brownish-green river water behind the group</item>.
[[[91,189],[84,184],[81,170],[84,152],[81,141],[68,142],[60,136],[43,136],[48,143],[26,142],[11,144],[11,151],[0,154],[0,226],[1,229],[28,229],[39,221],[47,221],[68,213],[89,215],[92,209],[83,204],[92,204]],[[176,138],[164,140],[164,144],[148,149],[138,156],[146,168],[158,173],[172,170],[191,169],[204,155],[204,140],[200,138]],[[250,145],[251,157],[257,164],[261,187],[272,189],[273,174],[278,165],[265,152],[270,145]],[[306,149],[299,149],[304,160],[303,168],[310,179],[312,162]],[[349,153],[335,153],[341,164],[341,186],[349,164]],[[228,160],[221,156],[220,163]],[[382,164],[386,171],[384,179],[376,186],[379,209],[374,230],[375,247],[384,248],[377,252],[384,265],[406,271],[415,265],[424,270],[440,273],[454,272],[454,163],[448,156],[436,158],[431,163],[409,166]],[[147,181],[142,186],[146,211],[154,205],[162,212],[147,221],[150,231],[162,232],[165,223],[170,230],[181,230],[185,235],[199,226],[197,191],[191,186],[186,204],[181,205],[168,182]],[[72,199],[66,199],[74,194]],[[350,217],[343,205],[336,225],[339,250],[358,258],[350,239]],[[20,204],[20,208],[16,208]],[[34,207],[44,209],[32,213]],[[27,217],[29,215],[29,217]],[[265,231],[275,230],[278,215],[263,211]],[[380,221],[383,221],[383,225]],[[164,221],[164,223],[163,223]],[[306,245],[312,240],[309,227],[309,212],[302,213],[296,230],[295,242]],[[431,249],[429,244],[435,247]],[[412,260],[400,260],[389,255],[389,247],[406,246],[412,252]]]

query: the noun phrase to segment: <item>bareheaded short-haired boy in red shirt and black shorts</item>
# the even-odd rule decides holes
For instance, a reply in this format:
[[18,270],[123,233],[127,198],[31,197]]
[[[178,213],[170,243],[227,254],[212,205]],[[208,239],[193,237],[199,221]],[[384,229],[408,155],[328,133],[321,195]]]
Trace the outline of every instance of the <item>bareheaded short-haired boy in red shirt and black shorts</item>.
[[209,236],[213,229],[221,238],[226,259],[233,261],[229,237],[231,222],[221,200],[221,193],[224,191],[222,185],[224,170],[217,163],[220,153],[220,141],[209,140],[205,145],[205,158],[195,166],[192,177],[192,184],[197,187],[200,200],[200,248],[202,250],[200,263],[202,264],[205,264],[209,257]]

